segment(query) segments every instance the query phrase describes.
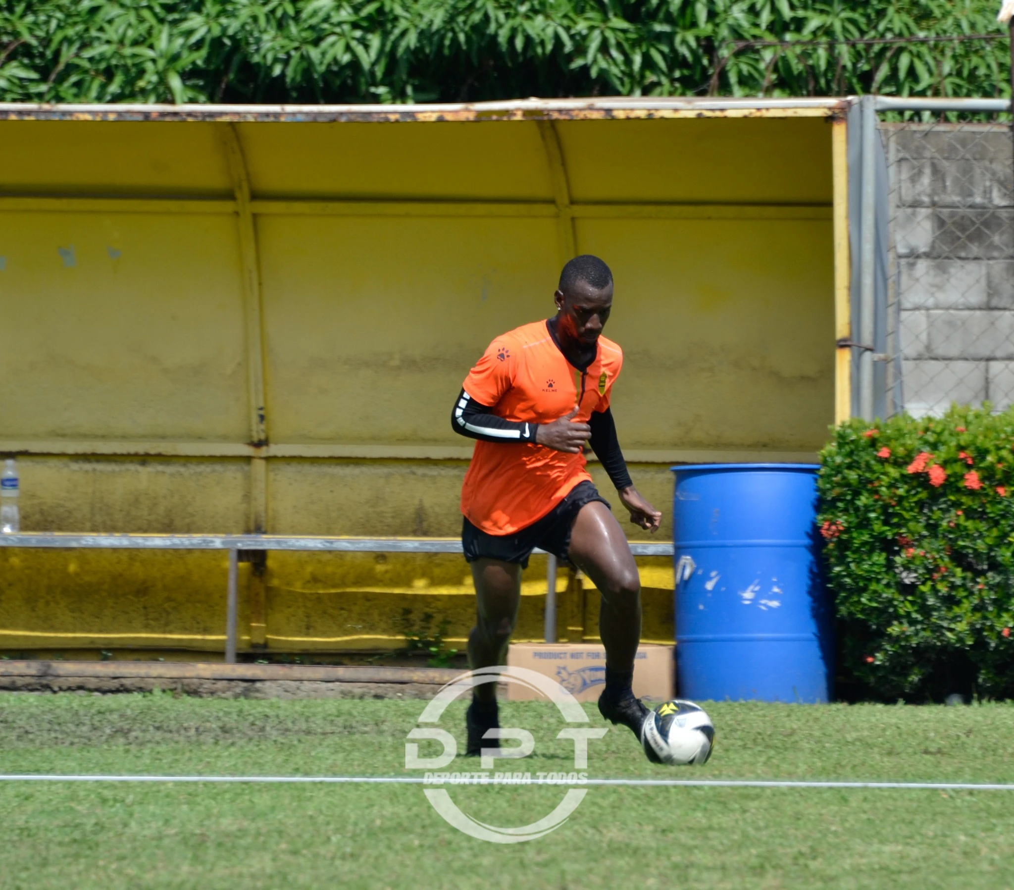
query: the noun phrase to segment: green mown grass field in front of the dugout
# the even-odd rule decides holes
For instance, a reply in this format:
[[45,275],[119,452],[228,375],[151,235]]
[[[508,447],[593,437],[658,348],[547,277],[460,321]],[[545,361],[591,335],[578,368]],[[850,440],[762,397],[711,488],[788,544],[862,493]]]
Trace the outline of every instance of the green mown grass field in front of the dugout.
[[[422,704],[0,693],[0,772],[404,775]],[[589,773],[1014,782],[1012,705],[706,707],[719,740],[707,766],[653,766],[610,730]],[[461,713],[441,723],[459,739]],[[570,742],[545,742],[552,706],[504,714],[535,735],[525,769],[573,768]],[[562,797],[452,794],[505,825]],[[499,845],[448,826],[419,785],[0,782],[0,886],[31,890],[1014,887],[1003,791],[592,788],[554,833]]]

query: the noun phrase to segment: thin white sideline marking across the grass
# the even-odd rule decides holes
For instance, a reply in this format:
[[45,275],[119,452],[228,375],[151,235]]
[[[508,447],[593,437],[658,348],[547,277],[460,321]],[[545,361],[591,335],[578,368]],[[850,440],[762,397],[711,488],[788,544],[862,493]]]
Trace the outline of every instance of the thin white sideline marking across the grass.
[[[46,775],[0,774],[0,781],[148,781],[254,784],[423,784],[416,775]],[[515,784],[520,784],[517,782]],[[758,789],[908,789],[914,791],[1011,792],[1014,784],[947,781],[795,781],[791,779],[724,778],[588,778],[558,781],[532,778],[524,784],[623,785],[647,788],[758,788]],[[449,782],[448,782],[449,784]],[[494,783],[491,782],[491,785]]]

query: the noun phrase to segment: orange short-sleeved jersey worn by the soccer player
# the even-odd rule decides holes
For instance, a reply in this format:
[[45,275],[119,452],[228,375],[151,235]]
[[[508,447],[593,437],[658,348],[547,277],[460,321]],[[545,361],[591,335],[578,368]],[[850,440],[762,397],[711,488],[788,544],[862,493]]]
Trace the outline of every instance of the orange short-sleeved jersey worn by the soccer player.
[[[521,423],[551,423],[579,408],[574,419],[609,407],[624,354],[599,336],[587,370],[574,367],[547,323],[522,325],[497,337],[464,380],[464,391],[494,414]],[[461,488],[461,512],[490,535],[512,535],[537,522],[583,479],[584,455],[532,442],[477,441]]]

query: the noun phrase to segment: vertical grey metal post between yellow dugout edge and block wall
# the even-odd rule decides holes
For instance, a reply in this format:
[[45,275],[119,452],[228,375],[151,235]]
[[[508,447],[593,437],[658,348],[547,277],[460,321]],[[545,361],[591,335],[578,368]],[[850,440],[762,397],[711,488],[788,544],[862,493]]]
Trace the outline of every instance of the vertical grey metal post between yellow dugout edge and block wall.
[[[860,247],[859,247],[859,342],[873,343],[875,333],[875,290],[876,269],[876,139],[877,110],[876,97],[864,95],[862,102],[863,142],[862,176],[863,191],[860,204]],[[873,419],[873,353],[863,349],[859,353],[859,414],[866,420]]]

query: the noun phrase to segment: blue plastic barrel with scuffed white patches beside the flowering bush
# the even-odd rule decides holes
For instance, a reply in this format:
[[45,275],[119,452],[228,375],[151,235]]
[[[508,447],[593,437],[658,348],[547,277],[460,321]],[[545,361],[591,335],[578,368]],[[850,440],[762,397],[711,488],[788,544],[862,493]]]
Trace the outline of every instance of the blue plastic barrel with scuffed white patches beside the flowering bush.
[[682,697],[828,700],[834,628],[817,543],[818,469],[672,468]]

